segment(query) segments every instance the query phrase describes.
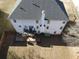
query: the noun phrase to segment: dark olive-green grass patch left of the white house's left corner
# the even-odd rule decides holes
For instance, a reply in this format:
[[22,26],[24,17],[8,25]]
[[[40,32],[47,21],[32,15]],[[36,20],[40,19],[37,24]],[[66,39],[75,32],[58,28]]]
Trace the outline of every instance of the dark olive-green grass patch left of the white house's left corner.
[[8,14],[0,11],[0,37],[4,31],[13,30],[11,23],[7,19]]

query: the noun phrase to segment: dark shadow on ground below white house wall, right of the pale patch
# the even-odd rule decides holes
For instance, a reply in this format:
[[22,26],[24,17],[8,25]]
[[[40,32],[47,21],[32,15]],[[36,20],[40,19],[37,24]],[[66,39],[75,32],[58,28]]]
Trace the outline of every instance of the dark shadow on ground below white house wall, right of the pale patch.
[[62,38],[62,35],[52,35],[49,37],[43,35],[37,35],[36,40],[37,45],[43,47],[51,47],[53,45],[67,46],[66,42]]

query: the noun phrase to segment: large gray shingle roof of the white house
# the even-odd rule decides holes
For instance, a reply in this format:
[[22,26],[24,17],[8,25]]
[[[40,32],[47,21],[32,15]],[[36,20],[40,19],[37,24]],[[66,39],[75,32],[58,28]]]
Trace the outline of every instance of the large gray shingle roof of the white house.
[[12,19],[40,19],[45,10],[46,18],[51,20],[68,20],[55,0],[22,0],[11,14]]

